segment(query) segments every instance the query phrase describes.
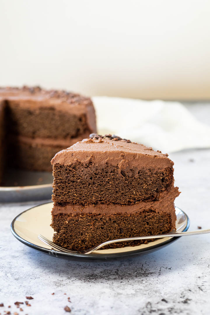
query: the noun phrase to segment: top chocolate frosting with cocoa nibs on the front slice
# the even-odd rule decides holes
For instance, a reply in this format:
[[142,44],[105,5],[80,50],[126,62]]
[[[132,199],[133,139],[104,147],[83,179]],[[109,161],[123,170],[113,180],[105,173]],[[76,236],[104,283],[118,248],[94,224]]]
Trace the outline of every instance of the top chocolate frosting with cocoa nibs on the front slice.
[[173,167],[173,162],[167,157],[167,154],[111,135],[104,137],[93,135],[89,139],[83,139],[58,152],[51,160],[52,164],[62,165],[72,163],[85,165],[90,162],[95,166],[109,164],[118,166],[119,169]]

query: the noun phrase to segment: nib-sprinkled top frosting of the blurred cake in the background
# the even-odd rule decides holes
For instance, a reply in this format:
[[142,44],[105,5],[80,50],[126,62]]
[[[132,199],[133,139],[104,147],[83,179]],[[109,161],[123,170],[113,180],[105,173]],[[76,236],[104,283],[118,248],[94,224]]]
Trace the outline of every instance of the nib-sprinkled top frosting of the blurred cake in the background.
[[86,114],[89,129],[96,130],[95,111],[90,98],[61,90],[40,87],[0,88],[0,98],[22,108],[54,107],[75,115]]

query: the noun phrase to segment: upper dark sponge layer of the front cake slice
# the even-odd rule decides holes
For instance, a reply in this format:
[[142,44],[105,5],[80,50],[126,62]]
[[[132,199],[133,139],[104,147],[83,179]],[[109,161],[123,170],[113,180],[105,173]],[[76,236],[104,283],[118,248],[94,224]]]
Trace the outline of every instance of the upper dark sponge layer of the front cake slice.
[[56,203],[133,204],[154,200],[173,183],[173,168],[121,170],[114,166],[85,167],[80,163],[70,166],[53,165],[53,196]]

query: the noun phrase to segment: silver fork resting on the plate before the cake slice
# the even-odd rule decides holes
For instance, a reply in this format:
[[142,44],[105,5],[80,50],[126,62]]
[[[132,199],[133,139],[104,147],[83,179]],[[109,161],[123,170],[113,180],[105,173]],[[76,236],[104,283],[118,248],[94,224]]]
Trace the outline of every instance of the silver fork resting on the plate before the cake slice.
[[92,252],[94,252],[95,250],[105,246],[105,245],[109,245],[109,244],[113,244],[113,243],[118,243],[118,242],[125,242],[125,241],[134,241],[134,240],[141,240],[141,239],[151,239],[151,238],[165,238],[165,237],[179,237],[179,236],[186,236],[186,235],[198,235],[198,234],[206,234],[206,233],[210,233],[210,229],[208,230],[200,230],[200,231],[191,231],[191,232],[175,232],[175,233],[167,233],[167,234],[159,234],[159,235],[148,235],[148,236],[139,236],[139,237],[130,237],[130,238],[119,238],[119,239],[113,239],[111,241],[106,241],[104,243],[101,243],[99,245],[97,245],[96,247],[92,247],[88,250],[78,250],[78,251],[74,251],[74,250],[69,250],[69,249],[65,249],[63,247],[60,247],[59,245],[51,242],[50,240],[48,240],[47,238],[45,238],[44,236],[42,236],[41,234],[38,235],[38,239],[40,241],[42,241],[43,243],[49,245],[52,247],[52,249],[55,249],[57,251],[60,251],[62,253],[69,253],[69,254],[90,254]]

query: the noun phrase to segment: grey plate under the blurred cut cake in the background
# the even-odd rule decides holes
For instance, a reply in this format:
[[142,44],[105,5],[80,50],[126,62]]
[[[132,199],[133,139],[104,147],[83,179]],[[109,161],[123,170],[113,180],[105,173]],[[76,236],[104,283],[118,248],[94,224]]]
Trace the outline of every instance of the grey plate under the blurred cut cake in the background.
[[4,177],[4,186],[0,186],[1,202],[51,199],[52,172],[9,169]]

